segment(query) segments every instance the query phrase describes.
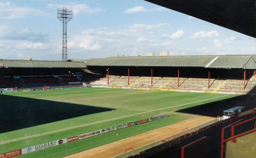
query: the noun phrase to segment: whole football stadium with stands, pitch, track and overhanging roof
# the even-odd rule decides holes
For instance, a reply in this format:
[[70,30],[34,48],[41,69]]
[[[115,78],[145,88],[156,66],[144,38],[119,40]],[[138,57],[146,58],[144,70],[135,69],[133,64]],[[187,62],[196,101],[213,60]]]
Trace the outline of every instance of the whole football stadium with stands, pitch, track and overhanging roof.
[[0,59],[0,158],[254,157],[256,54],[82,58]]

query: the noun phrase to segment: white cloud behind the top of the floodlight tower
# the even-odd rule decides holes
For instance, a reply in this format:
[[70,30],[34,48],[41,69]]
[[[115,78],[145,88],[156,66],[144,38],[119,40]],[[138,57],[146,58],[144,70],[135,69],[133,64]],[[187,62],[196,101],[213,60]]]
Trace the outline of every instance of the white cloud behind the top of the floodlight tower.
[[63,8],[66,7],[67,9],[73,10],[73,15],[78,15],[80,13],[84,14],[93,14],[96,12],[100,12],[100,8],[90,8],[85,4],[48,4],[48,7],[51,9]]

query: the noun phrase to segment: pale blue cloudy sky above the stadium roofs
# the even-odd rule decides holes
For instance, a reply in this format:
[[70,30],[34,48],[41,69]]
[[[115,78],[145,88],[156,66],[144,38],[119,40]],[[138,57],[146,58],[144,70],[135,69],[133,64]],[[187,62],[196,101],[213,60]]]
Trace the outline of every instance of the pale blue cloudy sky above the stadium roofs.
[[60,61],[62,7],[73,9],[68,59],[256,53],[255,38],[143,0],[13,0],[0,2],[0,59]]

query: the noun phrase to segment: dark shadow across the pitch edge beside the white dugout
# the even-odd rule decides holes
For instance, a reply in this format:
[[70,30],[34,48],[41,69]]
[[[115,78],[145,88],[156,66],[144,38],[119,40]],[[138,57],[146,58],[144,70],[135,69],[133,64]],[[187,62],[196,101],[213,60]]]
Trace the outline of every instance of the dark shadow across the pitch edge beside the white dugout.
[[223,116],[223,111],[235,106],[245,106],[245,110],[256,107],[256,95],[246,94],[212,103],[202,104],[191,108],[181,109],[176,112],[190,113],[203,116]]

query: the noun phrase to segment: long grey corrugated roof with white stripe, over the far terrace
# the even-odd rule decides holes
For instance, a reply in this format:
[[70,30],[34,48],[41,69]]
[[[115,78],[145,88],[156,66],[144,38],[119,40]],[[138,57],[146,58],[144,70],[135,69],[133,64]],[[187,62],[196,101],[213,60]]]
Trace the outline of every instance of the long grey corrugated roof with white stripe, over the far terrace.
[[255,69],[255,54],[184,55],[184,56],[126,56],[91,59],[87,66],[163,66]]

